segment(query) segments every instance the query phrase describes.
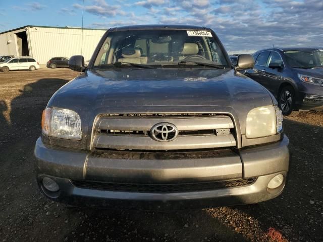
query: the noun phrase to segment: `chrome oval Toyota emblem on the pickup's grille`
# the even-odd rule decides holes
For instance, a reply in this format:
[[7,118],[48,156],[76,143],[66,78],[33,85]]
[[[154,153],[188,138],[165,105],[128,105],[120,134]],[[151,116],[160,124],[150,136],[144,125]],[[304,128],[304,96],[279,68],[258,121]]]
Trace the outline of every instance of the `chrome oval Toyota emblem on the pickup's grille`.
[[168,142],[174,140],[178,135],[175,125],[170,123],[159,123],[154,125],[150,130],[151,137],[160,142]]

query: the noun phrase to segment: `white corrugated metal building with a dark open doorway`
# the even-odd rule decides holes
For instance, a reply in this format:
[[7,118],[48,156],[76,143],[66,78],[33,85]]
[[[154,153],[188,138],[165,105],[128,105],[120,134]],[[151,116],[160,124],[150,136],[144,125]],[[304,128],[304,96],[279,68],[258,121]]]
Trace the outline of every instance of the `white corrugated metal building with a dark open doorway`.
[[[83,29],[83,51],[88,61],[104,34],[102,29]],[[39,64],[51,57],[81,54],[82,29],[73,27],[24,26],[0,33],[0,56],[32,56]]]

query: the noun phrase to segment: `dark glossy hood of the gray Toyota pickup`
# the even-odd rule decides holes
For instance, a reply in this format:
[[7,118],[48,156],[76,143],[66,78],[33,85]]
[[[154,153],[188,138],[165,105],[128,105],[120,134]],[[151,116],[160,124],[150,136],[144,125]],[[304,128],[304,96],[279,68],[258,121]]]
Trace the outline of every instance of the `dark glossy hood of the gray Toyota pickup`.
[[271,104],[265,88],[231,69],[91,70],[48,102],[75,110],[89,127],[99,113],[231,112],[242,133],[248,111]]

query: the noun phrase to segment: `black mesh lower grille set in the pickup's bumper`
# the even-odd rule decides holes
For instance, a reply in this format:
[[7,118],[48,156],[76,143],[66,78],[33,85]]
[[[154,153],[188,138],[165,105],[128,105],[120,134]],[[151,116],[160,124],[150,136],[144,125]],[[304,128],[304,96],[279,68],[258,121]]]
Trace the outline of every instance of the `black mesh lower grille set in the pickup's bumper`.
[[185,184],[128,184],[128,183],[104,183],[101,181],[72,180],[72,184],[78,188],[94,189],[113,192],[132,193],[183,193],[200,192],[224,188],[246,187],[255,183],[257,177],[244,179],[210,181],[203,183]]

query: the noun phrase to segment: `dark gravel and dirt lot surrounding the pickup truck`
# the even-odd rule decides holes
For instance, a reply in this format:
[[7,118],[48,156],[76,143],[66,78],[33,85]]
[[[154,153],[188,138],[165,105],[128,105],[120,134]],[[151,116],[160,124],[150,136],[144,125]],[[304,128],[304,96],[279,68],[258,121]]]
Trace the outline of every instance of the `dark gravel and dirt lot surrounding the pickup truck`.
[[[284,121],[292,160],[282,196],[173,212],[71,209],[38,190],[33,148],[49,97],[78,73],[0,72],[0,241],[322,241],[323,113]],[[274,228],[283,235],[275,240]],[[280,234],[278,234],[280,235]]]

